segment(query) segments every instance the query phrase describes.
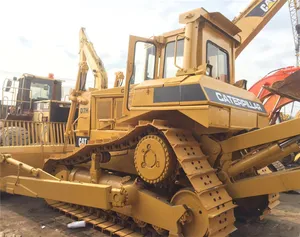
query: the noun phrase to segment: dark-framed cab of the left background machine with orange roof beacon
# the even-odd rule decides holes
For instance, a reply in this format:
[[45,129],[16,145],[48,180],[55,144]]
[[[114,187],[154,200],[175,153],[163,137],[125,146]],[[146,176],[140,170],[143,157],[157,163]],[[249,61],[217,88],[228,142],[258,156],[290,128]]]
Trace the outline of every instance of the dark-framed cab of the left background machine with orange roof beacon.
[[34,102],[61,100],[62,82],[52,78],[23,74],[4,80],[2,89],[1,118],[10,120],[32,120]]

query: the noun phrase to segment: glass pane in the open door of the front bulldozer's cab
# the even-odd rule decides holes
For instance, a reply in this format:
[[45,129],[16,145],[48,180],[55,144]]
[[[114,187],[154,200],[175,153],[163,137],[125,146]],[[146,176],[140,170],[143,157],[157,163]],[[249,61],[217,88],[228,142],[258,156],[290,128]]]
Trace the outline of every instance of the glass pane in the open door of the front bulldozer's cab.
[[154,44],[144,42],[135,44],[134,65],[130,84],[139,84],[144,80],[154,79],[155,54],[156,47]]

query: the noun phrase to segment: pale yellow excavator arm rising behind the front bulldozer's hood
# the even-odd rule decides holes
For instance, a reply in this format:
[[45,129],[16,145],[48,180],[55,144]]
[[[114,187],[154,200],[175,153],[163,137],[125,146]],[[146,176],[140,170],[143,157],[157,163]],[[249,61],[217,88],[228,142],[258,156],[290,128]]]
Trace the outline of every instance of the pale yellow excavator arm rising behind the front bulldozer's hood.
[[97,55],[92,42],[86,36],[85,28],[80,29],[80,62],[90,66],[94,73],[95,83],[94,88],[106,89],[108,84],[107,73],[104,64]]

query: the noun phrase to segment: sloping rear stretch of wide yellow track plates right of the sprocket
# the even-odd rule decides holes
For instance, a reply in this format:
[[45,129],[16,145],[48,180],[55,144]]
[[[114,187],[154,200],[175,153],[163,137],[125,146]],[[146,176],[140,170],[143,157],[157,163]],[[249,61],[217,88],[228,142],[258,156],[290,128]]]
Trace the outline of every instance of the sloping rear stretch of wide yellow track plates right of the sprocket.
[[164,134],[206,209],[209,218],[208,236],[227,236],[235,231],[235,205],[192,133],[167,128]]

